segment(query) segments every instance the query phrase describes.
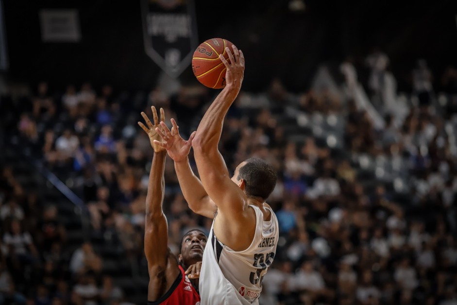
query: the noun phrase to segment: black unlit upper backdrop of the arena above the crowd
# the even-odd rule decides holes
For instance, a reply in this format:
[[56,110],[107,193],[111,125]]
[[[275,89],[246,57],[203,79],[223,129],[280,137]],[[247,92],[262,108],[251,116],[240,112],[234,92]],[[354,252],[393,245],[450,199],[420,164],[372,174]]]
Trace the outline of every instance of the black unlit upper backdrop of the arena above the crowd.
[[[380,48],[391,59],[399,86],[425,58],[439,74],[457,64],[456,3],[442,1],[305,0],[294,13],[288,1],[195,0],[199,41],[223,37],[246,57],[246,90],[264,90],[279,77],[305,90],[322,63],[338,64]],[[55,86],[90,81],[150,89],[160,70],[145,54],[139,0],[3,0],[9,77],[48,80]],[[38,10],[78,8],[80,43],[41,42]],[[184,82],[196,82],[187,69]]]

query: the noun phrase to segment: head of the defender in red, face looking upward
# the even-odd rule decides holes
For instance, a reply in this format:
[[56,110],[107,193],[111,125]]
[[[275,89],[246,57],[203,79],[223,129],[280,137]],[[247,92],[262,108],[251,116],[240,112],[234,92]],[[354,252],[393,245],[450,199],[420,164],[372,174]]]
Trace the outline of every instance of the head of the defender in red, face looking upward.
[[190,230],[184,234],[178,256],[179,263],[187,268],[201,262],[207,239],[205,233],[198,229]]

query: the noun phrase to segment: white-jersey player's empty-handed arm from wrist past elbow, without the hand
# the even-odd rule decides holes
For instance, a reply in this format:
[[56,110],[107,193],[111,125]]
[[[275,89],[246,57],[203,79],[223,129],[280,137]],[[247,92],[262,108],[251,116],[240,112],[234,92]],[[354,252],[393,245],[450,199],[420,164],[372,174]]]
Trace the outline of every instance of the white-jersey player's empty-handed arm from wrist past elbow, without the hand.
[[189,208],[196,214],[214,218],[217,206],[214,204],[203,188],[203,184],[192,172],[189,159],[174,162],[176,175],[178,176],[179,185],[186,198]]

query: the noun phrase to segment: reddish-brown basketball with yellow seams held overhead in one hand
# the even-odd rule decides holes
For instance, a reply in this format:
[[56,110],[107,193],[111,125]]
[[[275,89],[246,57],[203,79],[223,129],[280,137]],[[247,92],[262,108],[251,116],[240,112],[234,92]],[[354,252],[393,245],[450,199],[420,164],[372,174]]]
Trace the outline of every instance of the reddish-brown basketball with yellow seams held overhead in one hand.
[[233,43],[227,39],[212,38],[198,46],[192,57],[192,71],[199,82],[213,89],[225,87],[225,71],[227,68],[220,61],[219,54],[222,54],[230,62],[225,48],[229,47],[233,54],[232,45]]

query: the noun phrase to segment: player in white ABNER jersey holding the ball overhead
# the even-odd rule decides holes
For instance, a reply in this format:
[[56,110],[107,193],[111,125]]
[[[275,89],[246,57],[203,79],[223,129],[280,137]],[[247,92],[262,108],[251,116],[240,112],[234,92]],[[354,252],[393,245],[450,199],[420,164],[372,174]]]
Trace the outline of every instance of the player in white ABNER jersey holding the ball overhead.
[[[278,240],[278,223],[265,200],[276,184],[276,173],[263,160],[248,159],[230,178],[218,150],[223,120],[236,99],[244,75],[244,56],[235,46],[229,54],[226,87],[203,116],[192,143],[201,181],[193,175],[180,147],[186,141],[171,133],[165,123],[156,131],[175,161],[175,169],[189,207],[213,218],[200,272],[202,305],[257,304],[262,278],[273,262]],[[178,130],[172,120],[173,130]],[[191,138],[193,135],[191,136]],[[158,143],[158,142],[157,142]]]

